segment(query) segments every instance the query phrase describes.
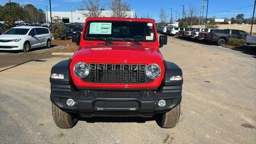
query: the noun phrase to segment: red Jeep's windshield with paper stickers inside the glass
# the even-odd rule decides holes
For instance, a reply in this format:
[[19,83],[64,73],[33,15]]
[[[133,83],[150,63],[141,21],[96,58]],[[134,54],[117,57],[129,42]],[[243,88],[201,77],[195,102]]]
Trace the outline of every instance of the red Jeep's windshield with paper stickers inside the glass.
[[156,40],[154,26],[151,22],[131,21],[89,21],[86,23],[85,40],[90,38],[105,38],[111,41],[132,39],[139,42]]

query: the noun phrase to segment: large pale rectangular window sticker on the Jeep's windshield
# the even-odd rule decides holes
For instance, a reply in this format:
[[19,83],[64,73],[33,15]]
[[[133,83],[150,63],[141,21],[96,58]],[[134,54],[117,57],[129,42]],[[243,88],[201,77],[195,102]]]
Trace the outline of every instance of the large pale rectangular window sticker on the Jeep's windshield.
[[89,34],[111,34],[111,26],[111,22],[92,22]]

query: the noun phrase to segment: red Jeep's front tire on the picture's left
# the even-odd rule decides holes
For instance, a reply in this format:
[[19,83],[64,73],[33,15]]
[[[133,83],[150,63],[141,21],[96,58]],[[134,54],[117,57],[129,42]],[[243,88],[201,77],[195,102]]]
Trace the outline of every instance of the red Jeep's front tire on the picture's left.
[[73,128],[78,122],[74,115],[62,111],[55,104],[52,104],[52,117],[59,128]]

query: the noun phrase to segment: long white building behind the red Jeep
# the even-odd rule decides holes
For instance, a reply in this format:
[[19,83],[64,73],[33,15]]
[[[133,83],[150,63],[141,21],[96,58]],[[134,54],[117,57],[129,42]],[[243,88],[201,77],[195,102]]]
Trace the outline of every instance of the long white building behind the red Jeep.
[[[100,17],[111,17],[111,10],[103,10],[100,14]],[[136,12],[135,11],[127,11],[127,18],[136,18]],[[50,22],[50,11],[46,12],[46,21],[47,21],[47,15],[48,15],[48,22]],[[54,12],[52,11],[52,20],[54,19],[54,16],[59,16],[62,18],[64,23],[84,23],[86,18],[80,14],[78,11],[70,11],[70,12]]]

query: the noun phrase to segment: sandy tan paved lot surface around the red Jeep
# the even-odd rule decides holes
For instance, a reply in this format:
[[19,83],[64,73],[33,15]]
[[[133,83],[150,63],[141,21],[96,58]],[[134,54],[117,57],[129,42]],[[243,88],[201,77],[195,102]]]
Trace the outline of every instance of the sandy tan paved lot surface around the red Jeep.
[[175,128],[160,128],[154,118],[96,117],[60,129],[52,119],[49,76],[51,67],[67,58],[33,58],[0,68],[0,142],[255,144],[255,53],[171,37],[160,51],[184,73],[182,112]]

